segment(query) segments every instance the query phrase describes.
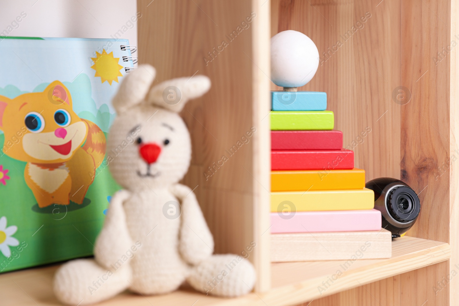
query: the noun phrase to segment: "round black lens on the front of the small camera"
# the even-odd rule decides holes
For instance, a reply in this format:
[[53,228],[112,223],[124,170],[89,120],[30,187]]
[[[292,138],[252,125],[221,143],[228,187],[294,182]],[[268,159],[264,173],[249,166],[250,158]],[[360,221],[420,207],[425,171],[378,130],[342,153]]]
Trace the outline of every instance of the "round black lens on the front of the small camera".
[[410,222],[418,216],[420,202],[413,189],[399,186],[389,192],[387,208],[391,216],[397,221]]

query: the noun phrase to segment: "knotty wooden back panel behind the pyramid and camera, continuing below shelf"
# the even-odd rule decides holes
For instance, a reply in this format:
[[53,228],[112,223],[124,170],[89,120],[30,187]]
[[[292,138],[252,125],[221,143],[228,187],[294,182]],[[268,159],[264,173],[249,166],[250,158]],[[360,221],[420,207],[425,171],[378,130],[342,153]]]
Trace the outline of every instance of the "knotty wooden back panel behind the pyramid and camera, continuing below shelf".
[[[409,184],[422,209],[408,235],[448,243],[449,58],[434,58],[451,45],[449,6],[443,0],[271,2],[272,35],[292,29],[316,43],[319,69],[300,90],[327,92],[344,146],[372,129],[353,148],[356,167],[365,169],[367,180],[387,176]],[[353,26],[355,33],[343,39]],[[334,47],[338,41],[342,45]],[[409,102],[407,96],[393,99],[394,90],[410,95]],[[309,305],[448,305],[449,288],[436,295],[434,286],[449,269],[449,262],[439,263]]]

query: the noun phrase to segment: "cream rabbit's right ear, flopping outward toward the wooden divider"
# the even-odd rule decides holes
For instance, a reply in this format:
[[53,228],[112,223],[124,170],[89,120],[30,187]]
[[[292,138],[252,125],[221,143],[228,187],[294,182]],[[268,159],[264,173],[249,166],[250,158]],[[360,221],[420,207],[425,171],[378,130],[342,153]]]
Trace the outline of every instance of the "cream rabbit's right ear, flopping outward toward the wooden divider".
[[147,101],[180,112],[190,99],[200,97],[210,89],[210,79],[203,75],[191,78],[173,78],[154,86]]

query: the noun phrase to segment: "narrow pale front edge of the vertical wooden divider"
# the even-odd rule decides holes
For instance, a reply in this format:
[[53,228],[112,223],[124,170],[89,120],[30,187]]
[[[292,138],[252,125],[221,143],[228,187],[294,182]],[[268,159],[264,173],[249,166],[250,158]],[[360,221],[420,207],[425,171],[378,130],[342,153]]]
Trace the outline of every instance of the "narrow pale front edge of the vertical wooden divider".
[[[257,18],[252,24],[252,82],[253,82],[253,122],[258,134],[254,135],[253,144],[253,225],[257,249],[255,250],[255,267],[257,269],[257,291],[267,291],[271,285],[271,257],[269,252],[270,218],[270,148],[271,134],[269,112],[271,110],[269,95],[269,39],[270,35],[270,1],[252,0],[252,11]],[[268,74],[268,75],[267,75]],[[265,190],[267,188],[268,190]]]

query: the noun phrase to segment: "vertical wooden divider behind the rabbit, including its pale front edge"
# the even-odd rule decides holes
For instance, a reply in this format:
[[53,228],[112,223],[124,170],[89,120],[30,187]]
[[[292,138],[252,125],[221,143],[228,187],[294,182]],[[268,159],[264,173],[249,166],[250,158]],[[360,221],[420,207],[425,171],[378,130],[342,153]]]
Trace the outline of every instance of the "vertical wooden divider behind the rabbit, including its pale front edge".
[[[269,249],[262,243],[269,241],[269,79],[254,69],[269,72],[269,61],[253,59],[260,44],[252,37],[257,29],[257,37],[269,40],[269,28],[257,27],[269,23],[269,4],[261,16],[263,10],[252,12],[244,0],[138,0],[138,10],[139,62],[156,67],[154,84],[195,74],[212,81],[210,91],[181,115],[193,149],[183,183],[196,188],[215,252],[245,251],[257,271],[269,275],[269,260],[263,261]],[[257,246],[247,252],[252,241]],[[269,287],[268,276],[258,279],[257,288]]]

